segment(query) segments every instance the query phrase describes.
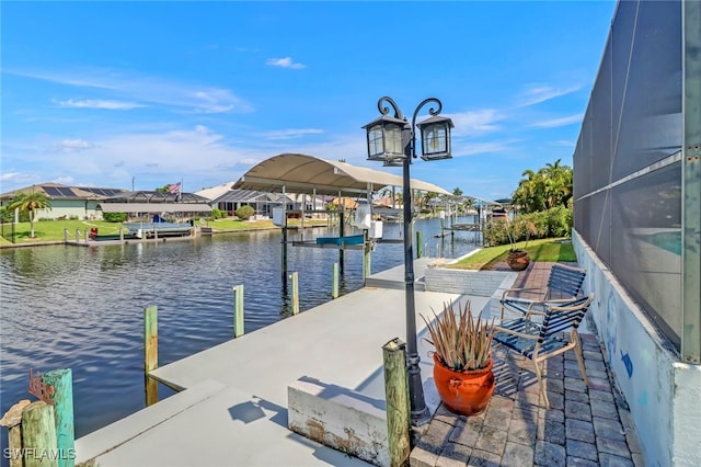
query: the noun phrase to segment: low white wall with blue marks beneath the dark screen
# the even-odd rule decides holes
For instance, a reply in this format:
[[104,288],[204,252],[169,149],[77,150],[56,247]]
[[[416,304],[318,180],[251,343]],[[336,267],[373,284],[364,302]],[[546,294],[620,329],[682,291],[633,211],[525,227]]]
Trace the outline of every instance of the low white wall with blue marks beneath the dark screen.
[[579,266],[587,269],[585,293],[596,294],[589,309],[646,464],[701,465],[701,366],[680,362],[576,231],[573,244]]

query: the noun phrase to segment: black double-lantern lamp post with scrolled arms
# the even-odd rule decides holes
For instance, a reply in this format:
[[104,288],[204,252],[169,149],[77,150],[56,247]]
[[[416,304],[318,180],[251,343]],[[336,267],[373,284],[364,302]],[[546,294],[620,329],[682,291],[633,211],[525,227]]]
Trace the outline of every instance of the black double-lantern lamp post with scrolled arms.
[[[382,106],[386,101],[394,111]],[[418,111],[427,103],[435,103],[438,109],[430,107],[432,115],[416,125]],[[397,103],[388,96],[380,98],[377,103],[381,116],[365,125],[368,137],[368,160],[382,161],[388,167],[402,166],[403,170],[403,203],[404,203],[404,288],[406,294],[406,372],[409,375],[409,391],[411,401],[411,420],[414,426],[420,426],[430,420],[430,413],[424,399],[424,388],[421,380],[418,349],[416,344],[416,310],[414,304],[414,251],[412,248],[412,191],[409,167],[416,158],[416,126],[421,129],[422,159],[449,159],[450,129],[452,121],[438,116],[443,104],[435,98],[424,100],[412,116],[411,125],[406,122]]]

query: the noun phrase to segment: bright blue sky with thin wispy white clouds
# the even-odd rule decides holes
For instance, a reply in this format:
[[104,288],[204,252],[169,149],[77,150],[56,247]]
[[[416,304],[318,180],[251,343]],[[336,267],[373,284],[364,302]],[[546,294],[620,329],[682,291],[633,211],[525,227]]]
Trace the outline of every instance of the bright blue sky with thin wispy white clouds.
[[456,125],[453,158],[412,178],[496,200],[526,169],[572,166],[616,1],[0,8],[2,193],[194,192],[283,152],[389,170],[360,128],[389,95],[410,118],[438,98]]

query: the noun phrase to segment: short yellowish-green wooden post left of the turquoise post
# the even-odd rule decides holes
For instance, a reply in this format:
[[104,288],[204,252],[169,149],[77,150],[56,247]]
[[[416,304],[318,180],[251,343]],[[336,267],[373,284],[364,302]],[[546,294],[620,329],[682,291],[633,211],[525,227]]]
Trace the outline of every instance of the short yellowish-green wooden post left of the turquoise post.
[[24,467],[58,466],[54,406],[37,400],[24,408],[22,411],[22,448],[24,449]]

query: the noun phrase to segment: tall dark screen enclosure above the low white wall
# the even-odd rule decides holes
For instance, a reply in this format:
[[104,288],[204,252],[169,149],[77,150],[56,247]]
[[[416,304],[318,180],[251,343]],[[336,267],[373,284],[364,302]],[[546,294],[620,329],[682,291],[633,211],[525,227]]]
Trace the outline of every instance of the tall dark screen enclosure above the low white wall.
[[[680,358],[696,364],[701,363],[700,10],[699,1],[619,2],[574,153],[575,229]],[[668,260],[659,263],[631,258],[650,250],[633,238],[636,230],[655,229],[677,230],[680,254],[660,251]],[[655,305],[655,294],[663,293],[673,299]]]

